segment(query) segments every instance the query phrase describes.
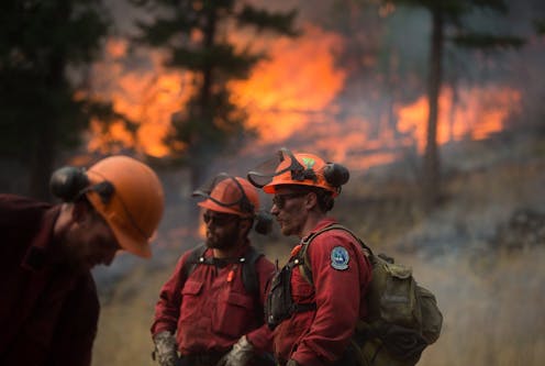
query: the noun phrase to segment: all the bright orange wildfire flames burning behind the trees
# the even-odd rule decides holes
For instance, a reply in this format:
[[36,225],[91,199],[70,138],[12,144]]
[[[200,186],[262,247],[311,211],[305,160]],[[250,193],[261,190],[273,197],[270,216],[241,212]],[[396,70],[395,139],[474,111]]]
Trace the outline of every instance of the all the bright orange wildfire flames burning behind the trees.
[[[269,58],[260,62],[248,80],[232,82],[233,101],[248,112],[248,126],[259,138],[246,154],[266,145],[297,141],[298,148],[325,151],[329,158],[351,160],[351,168],[366,168],[396,159],[396,147],[425,146],[427,100],[397,106],[396,134],[381,129],[370,134],[374,121],[359,117],[338,120],[335,98],[345,87],[347,74],[335,66],[334,55],[343,46],[341,36],[316,26],[305,26],[298,38],[278,38],[268,44]],[[166,69],[159,52],[146,51],[129,63],[123,40],[110,40],[107,57],[93,67],[93,91],[112,100],[115,111],[137,121],[135,134],[122,121],[104,133],[101,121],[92,121],[88,148],[115,152],[123,147],[153,156],[165,156],[163,137],[170,118],[183,108],[191,91],[191,75]],[[134,58],[134,56],[133,56]],[[504,127],[507,117],[520,104],[520,92],[510,88],[460,88],[457,103],[444,88],[440,98],[437,141],[485,138]],[[374,137],[370,137],[370,136]],[[401,137],[399,137],[401,136]]]

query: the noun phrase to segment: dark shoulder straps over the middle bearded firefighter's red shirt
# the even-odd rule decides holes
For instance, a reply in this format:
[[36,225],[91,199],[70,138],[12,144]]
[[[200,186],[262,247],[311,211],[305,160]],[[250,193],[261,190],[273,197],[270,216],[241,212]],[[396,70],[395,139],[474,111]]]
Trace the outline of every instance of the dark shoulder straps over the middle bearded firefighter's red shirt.
[[[214,258],[205,258],[204,252],[207,252],[207,245],[199,244],[189,254],[186,263],[181,267],[181,273],[185,274],[186,278],[189,277],[197,269],[198,265],[212,265]],[[248,251],[243,257],[235,259],[236,262],[244,264],[242,266],[242,282],[246,292],[252,295],[258,295],[259,292],[259,281],[257,279],[257,273],[255,270],[255,264],[264,254],[257,252],[253,246],[249,246]],[[246,264],[252,264],[251,266]]]

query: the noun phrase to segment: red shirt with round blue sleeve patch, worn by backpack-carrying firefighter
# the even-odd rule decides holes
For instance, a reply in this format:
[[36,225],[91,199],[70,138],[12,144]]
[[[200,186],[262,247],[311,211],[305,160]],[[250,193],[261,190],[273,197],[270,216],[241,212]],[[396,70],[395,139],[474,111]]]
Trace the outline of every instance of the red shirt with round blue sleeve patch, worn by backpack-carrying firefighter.
[[[334,223],[322,220],[310,233]],[[309,235],[310,235],[309,234]],[[332,252],[343,247],[348,253],[346,269],[333,263]],[[343,249],[335,249],[335,253]],[[296,359],[303,366],[321,366],[338,359],[357,320],[367,314],[365,296],[371,266],[359,243],[346,231],[331,230],[318,235],[307,251],[314,286],[299,267],[291,275],[291,290],[297,303],[316,303],[316,310],[293,313],[274,331],[275,354],[279,359]]]

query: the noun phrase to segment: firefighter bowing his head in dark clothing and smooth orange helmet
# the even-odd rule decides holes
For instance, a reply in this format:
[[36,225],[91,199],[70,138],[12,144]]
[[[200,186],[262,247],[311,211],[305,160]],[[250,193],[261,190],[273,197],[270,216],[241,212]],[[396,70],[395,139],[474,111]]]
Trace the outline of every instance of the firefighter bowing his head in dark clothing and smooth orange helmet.
[[88,366],[99,301],[90,269],[118,251],[149,257],[163,215],[156,174],[126,156],[51,179],[64,202],[0,195],[0,365]]

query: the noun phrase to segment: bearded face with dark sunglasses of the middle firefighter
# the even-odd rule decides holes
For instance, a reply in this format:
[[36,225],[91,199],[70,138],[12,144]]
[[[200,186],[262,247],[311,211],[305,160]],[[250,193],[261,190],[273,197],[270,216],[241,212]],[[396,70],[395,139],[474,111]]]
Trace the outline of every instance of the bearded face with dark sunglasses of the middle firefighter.
[[230,249],[241,239],[241,218],[236,214],[207,210],[203,214],[207,225],[207,246],[215,249]]

